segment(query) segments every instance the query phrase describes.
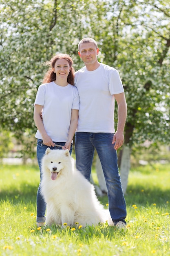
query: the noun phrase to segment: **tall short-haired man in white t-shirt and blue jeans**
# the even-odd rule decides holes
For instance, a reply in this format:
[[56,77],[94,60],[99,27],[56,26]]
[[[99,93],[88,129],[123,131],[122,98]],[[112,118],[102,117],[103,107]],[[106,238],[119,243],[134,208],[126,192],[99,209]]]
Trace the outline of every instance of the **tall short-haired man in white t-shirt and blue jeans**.
[[[126,228],[126,203],[117,165],[117,149],[124,143],[127,104],[119,73],[99,63],[99,48],[92,38],[79,42],[78,54],[85,67],[75,72],[79,91],[79,120],[75,133],[76,168],[90,180],[94,150],[99,155],[108,189],[109,211],[114,225]],[[115,100],[118,105],[114,128]]]

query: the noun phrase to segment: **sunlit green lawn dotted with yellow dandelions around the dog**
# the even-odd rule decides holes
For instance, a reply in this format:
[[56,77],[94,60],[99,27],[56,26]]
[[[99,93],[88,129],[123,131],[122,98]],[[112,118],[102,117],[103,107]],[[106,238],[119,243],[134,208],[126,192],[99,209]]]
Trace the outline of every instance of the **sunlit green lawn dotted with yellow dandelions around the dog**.
[[[93,176],[95,179],[95,173]],[[0,255],[170,255],[170,165],[130,171],[126,231],[106,224],[83,229],[77,225],[75,230],[53,225],[37,230],[38,183],[37,166],[0,167]],[[100,200],[108,202],[107,197]]]

